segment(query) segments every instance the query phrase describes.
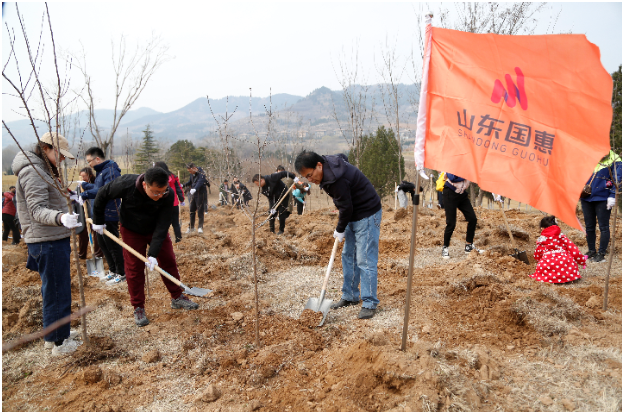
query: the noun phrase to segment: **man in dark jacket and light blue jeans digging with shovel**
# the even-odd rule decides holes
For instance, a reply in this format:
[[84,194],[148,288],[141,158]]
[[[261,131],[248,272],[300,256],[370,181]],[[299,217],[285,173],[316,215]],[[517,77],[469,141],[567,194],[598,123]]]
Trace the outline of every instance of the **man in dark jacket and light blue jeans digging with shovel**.
[[[371,182],[344,154],[320,156],[302,151],[294,163],[296,171],[309,182],[320,185],[339,209],[333,237],[345,239],[341,253],[343,286],[338,309],[359,303],[359,319],[370,319],[376,312],[378,289],[378,243],[382,206]],[[359,283],[361,290],[359,292]]]

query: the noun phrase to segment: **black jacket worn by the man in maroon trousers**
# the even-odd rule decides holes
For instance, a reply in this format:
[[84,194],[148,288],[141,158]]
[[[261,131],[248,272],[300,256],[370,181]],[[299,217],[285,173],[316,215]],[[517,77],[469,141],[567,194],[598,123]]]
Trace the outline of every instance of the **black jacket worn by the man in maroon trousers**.
[[153,234],[147,255],[157,257],[162,242],[173,220],[173,189],[167,186],[159,200],[152,200],[143,189],[145,175],[123,175],[104,185],[93,205],[93,221],[105,222],[106,204],[110,199],[121,199],[121,225],[140,235]]

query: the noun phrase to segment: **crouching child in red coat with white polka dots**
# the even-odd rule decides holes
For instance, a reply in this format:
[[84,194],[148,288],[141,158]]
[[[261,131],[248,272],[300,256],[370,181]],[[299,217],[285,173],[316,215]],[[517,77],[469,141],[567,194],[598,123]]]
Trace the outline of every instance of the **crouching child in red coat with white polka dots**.
[[540,228],[542,233],[534,253],[538,265],[536,272],[529,276],[548,283],[566,283],[581,279],[578,265],[585,268],[587,256],[561,232],[555,216],[543,218]]

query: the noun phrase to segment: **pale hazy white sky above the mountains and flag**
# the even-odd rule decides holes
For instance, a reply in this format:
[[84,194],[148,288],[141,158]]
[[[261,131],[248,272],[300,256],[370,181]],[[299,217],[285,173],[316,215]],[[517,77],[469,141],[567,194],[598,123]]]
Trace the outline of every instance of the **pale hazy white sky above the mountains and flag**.
[[[450,3],[444,3],[453,9]],[[20,12],[36,42],[43,3],[19,3]],[[300,96],[316,88],[338,89],[333,67],[340,54],[352,56],[359,45],[362,73],[370,83],[380,81],[376,64],[388,40],[402,64],[417,46],[416,11],[420,3],[232,3],[232,2],[79,2],[49,3],[57,47],[87,52],[99,108],[112,108],[111,40],[125,34],[130,45],[154,32],[170,46],[172,60],[155,74],[134,108],[169,112],[209,94]],[[429,8],[434,9],[432,4]],[[622,3],[549,3],[541,15],[538,34],[561,9],[556,32],[584,33],[598,45],[608,72],[622,64]],[[6,27],[19,28],[14,3],[3,8],[2,57],[7,59]],[[49,55],[50,46],[45,53]],[[26,63],[23,59],[23,63]],[[53,78],[49,75],[49,81]],[[413,83],[411,64],[403,83]],[[72,85],[80,86],[74,73]],[[2,117],[20,119],[11,109],[18,102],[2,84]],[[247,110],[247,108],[243,108]]]

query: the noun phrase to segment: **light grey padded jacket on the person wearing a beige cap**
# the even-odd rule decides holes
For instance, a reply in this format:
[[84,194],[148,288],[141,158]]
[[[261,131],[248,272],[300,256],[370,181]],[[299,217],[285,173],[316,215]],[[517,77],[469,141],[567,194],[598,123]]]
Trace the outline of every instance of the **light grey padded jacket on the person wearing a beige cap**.
[[[50,242],[64,239],[71,231],[60,223],[60,215],[67,213],[67,201],[58,192],[52,175],[44,160],[33,152],[19,152],[11,168],[17,176],[16,198],[17,211],[22,236],[26,243]],[[30,162],[35,165],[35,171]],[[45,181],[41,179],[44,177]],[[50,186],[48,183],[52,184]]]

